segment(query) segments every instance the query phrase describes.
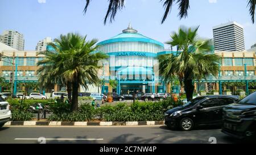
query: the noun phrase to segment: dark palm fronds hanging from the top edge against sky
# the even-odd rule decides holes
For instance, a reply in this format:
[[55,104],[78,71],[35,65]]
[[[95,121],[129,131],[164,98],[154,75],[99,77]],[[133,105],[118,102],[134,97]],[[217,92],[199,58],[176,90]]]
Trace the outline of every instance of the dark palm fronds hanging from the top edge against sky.
[[[91,0],[86,0],[86,5],[84,8],[84,14],[86,13],[88,6],[90,4]],[[172,5],[174,2],[178,3],[179,5],[179,17],[186,18],[188,15],[188,9],[189,9],[189,0],[160,0],[160,2],[164,1],[163,7],[165,9],[164,15],[162,18],[162,24],[166,20],[168,14],[170,14]],[[249,7],[249,12],[251,16],[251,20],[254,23],[254,15],[255,15],[255,6],[256,6],[256,0],[248,0],[247,1],[247,7]],[[109,0],[109,7],[108,11],[106,12],[104,24],[106,24],[106,21],[110,17],[110,23],[115,19],[115,15],[117,14],[118,10],[122,10],[123,7],[125,7],[125,0]]]

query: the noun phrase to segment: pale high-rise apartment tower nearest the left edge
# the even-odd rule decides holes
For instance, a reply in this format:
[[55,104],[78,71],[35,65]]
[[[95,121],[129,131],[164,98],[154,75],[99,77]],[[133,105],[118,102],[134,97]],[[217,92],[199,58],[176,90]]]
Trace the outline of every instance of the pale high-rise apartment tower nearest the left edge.
[[24,51],[24,37],[22,33],[13,30],[3,31],[0,41],[3,44],[9,45],[10,47],[17,49],[19,51]]

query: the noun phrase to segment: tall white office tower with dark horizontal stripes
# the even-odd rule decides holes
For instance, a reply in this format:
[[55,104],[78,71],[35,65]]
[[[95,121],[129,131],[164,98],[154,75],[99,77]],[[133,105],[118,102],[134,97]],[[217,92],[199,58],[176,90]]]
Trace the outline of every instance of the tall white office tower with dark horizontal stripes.
[[214,26],[213,40],[216,51],[245,51],[243,26],[237,22]]

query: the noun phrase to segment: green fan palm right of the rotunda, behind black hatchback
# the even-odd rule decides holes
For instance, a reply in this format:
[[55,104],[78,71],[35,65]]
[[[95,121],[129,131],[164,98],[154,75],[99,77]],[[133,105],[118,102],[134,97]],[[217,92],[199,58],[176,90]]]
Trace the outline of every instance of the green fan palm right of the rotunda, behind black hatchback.
[[173,76],[177,76],[184,85],[187,100],[193,97],[195,89],[194,80],[208,76],[217,76],[218,62],[220,57],[217,55],[206,54],[212,47],[211,40],[199,39],[196,28],[180,27],[179,31],[171,35],[170,44],[181,51],[178,55],[159,56],[159,74],[165,81]]

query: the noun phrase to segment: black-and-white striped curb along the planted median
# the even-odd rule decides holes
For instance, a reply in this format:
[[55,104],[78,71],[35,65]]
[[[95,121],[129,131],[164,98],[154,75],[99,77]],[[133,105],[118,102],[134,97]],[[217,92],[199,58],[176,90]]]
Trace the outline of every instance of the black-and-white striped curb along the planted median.
[[5,126],[153,126],[163,125],[163,121],[147,121],[147,122],[37,122],[37,121],[9,121]]

